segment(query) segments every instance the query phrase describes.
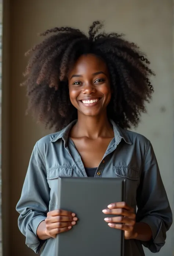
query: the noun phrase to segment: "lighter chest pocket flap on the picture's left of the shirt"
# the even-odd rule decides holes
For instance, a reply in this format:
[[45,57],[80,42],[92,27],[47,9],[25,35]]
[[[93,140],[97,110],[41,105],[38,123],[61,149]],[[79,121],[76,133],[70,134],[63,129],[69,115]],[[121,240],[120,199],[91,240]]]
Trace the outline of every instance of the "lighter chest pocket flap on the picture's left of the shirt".
[[71,177],[73,167],[69,165],[58,165],[47,170],[47,180],[57,179],[58,177]]

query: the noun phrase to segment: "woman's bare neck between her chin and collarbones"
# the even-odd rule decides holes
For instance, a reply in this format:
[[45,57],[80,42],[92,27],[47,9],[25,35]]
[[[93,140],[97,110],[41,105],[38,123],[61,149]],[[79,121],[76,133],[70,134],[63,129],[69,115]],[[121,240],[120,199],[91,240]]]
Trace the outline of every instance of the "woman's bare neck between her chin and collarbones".
[[78,115],[77,123],[72,129],[70,137],[97,139],[98,137],[114,137],[114,132],[106,115]]

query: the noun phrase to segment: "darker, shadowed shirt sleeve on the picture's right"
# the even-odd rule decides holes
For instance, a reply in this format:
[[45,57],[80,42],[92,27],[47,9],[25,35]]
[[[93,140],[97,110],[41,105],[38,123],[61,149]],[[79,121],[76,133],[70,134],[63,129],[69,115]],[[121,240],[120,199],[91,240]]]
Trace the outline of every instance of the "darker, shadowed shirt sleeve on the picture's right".
[[137,222],[148,224],[153,234],[151,241],[142,242],[142,245],[153,253],[159,252],[172,224],[172,212],[150,142],[137,189],[137,207]]

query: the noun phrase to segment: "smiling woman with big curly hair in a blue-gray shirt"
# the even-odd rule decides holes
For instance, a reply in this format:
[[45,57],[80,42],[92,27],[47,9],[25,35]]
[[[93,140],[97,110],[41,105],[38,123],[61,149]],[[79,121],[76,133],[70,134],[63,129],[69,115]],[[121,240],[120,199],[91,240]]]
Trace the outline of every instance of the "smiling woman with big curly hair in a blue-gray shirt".
[[32,48],[26,69],[28,109],[56,131],[37,141],[17,204],[26,244],[36,253],[44,244],[43,256],[56,255],[54,239],[78,221],[57,207],[61,176],[127,180],[126,202],[102,210],[113,214],[103,217],[108,228],[124,230],[125,256],[144,256],[142,245],[159,252],[172,223],[153,147],[126,130],[138,125],[151,98],[150,62],[134,43],[98,34],[100,28],[94,22],[88,36],[69,27],[47,30],[42,35],[55,34]]

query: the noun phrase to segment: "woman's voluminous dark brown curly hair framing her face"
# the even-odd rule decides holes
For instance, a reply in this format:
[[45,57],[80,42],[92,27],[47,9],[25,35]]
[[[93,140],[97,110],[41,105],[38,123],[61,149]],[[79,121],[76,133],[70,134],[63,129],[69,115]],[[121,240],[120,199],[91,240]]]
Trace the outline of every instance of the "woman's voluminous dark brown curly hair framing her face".
[[[47,37],[30,49],[32,53],[22,83],[27,86],[28,110],[38,121],[56,131],[77,119],[77,109],[69,98],[68,72],[82,54],[101,57],[109,70],[112,97],[108,105],[108,118],[126,129],[136,127],[141,112],[146,112],[153,86],[150,62],[139,47],[123,39],[117,33],[98,33],[99,21],[90,26],[88,36],[79,29],[53,28],[41,33]],[[27,112],[28,112],[27,110]]]

